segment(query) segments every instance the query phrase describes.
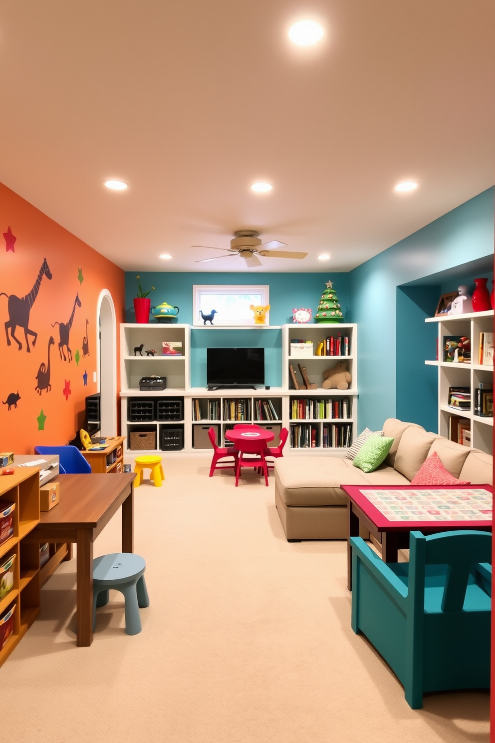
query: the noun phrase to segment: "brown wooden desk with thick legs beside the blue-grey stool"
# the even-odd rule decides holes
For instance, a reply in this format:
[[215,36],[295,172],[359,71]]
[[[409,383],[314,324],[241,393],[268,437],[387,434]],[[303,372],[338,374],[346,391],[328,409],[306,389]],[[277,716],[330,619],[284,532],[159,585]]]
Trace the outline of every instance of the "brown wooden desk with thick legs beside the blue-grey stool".
[[133,551],[134,473],[60,475],[60,502],[43,511],[30,542],[75,542],[77,645],[93,642],[93,542],[122,506],[122,552]]

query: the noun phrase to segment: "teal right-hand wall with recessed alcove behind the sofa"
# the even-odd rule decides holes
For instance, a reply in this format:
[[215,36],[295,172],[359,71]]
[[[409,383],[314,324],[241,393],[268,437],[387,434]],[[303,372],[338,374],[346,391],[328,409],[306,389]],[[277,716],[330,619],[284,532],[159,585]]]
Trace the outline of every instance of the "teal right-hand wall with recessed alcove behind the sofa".
[[[492,187],[350,272],[349,321],[358,323],[359,429],[376,429],[397,416],[436,430],[433,380],[424,365],[425,358],[435,358],[428,348],[433,340],[423,320],[434,314],[435,293],[438,298],[462,283],[454,267],[486,258],[479,265],[490,269],[481,275],[490,276],[493,253]],[[409,282],[419,285],[418,291],[404,287]]]

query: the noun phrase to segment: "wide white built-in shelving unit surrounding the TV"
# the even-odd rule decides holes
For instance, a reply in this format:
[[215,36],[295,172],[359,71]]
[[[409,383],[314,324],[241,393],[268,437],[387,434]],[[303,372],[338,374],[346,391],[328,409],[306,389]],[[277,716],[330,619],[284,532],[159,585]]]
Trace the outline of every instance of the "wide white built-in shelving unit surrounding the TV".
[[[206,326],[209,328],[210,326]],[[206,448],[206,432],[209,426],[214,426],[217,431],[217,440],[221,445],[229,444],[225,439],[225,432],[235,423],[246,422],[255,423],[260,426],[266,426],[274,429],[275,441],[277,434],[282,426],[289,429],[289,440],[286,444],[286,453],[308,452],[311,450],[315,454],[335,454],[339,455],[343,447],[324,446],[325,440],[332,441],[332,432],[334,439],[338,440],[338,432],[342,426],[349,427],[348,440],[353,441],[357,431],[357,326],[349,324],[321,324],[321,325],[266,325],[255,328],[256,331],[282,330],[282,369],[281,387],[272,387],[271,389],[260,388],[256,391],[246,389],[246,391],[219,390],[212,392],[204,387],[193,388],[190,386],[190,368],[191,368],[191,330],[204,331],[203,327],[191,328],[190,325],[168,325],[153,323],[149,325],[124,323],[121,325],[121,384],[120,393],[122,402],[122,436],[125,436],[125,454],[138,455],[160,452],[166,454],[160,448],[161,436],[163,429],[183,430],[183,447],[180,450],[183,454],[190,455],[197,452],[210,451]],[[253,326],[242,326],[232,328],[224,326],[223,328],[214,325],[213,330],[251,330]],[[306,340],[312,340],[314,348],[317,347],[321,340],[324,340],[330,334],[341,333],[342,336],[349,337],[350,355],[345,357],[337,356],[312,356],[306,358],[290,357],[290,341],[296,338],[304,337]],[[183,344],[183,357],[162,356],[163,341],[176,341]],[[134,355],[134,348],[143,343],[142,353],[146,350],[155,349],[157,356],[148,357]],[[352,374],[352,383],[350,389],[323,389],[323,372],[329,369],[339,360],[347,360],[350,373]],[[309,380],[318,385],[317,389],[291,389],[292,380],[289,375],[289,364],[295,366],[301,363],[305,366]],[[162,375],[167,378],[167,387],[164,390],[140,391],[140,378],[143,376]],[[298,372],[298,377],[301,376]],[[157,403],[163,408],[162,400],[170,400],[171,407],[175,401],[182,402],[182,417],[174,421],[164,421],[157,419]],[[135,420],[136,409],[140,408],[140,400],[143,402],[143,409],[146,407],[153,409],[154,413],[146,413],[148,420]],[[196,403],[196,400],[198,401]],[[240,400],[244,400],[240,403]],[[292,409],[294,400],[304,400],[304,416],[294,417]],[[334,406],[341,404],[344,407],[343,400],[346,400],[345,407],[347,418],[335,418],[334,413],[338,412]],[[232,404],[231,404],[232,401]],[[275,410],[275,418],[269,419],[266,407],[263,403],[270,401],[269,409]],[[315,401],[315,402],[309,402]],[[314,407],[318,401],[318,407]],[[227,404],[229,402],[229,404]],[[212,415],[212,403],[217,403],[217,415]],[[261,414],[259,406],[261,403]],[[197,409],[199,415],[197,418]],[[131,411],[132,408],[132,411]],[[322,414],[323,417],[320,417]],[[299,406],[298,410],[301,411]],[[149,416],[153,415],[153,419]],[[312,415],[312,417],[308,417]],[[297,429],[296,429],[297,426]],[[325,434],[325,428],[327,433]],[[296,430],[298,436],[295,435]],[[131,433],[132,432],[150,432],[154,433],[155,448],[131,450]],[[309,432],[309,438],[308,438]],[[312,433],[313,432],[313,433]],[[311,445],[311,436],[313,444]],[[143,439],[145,437],[142,437]],[[341,441],[343,436],[341,435]],[[302,442],[307,441],[309,446],[302,446]],[[292,442],[292,443],[291,443]],[[170,453],[177,455],[177,450],[171,450]]]

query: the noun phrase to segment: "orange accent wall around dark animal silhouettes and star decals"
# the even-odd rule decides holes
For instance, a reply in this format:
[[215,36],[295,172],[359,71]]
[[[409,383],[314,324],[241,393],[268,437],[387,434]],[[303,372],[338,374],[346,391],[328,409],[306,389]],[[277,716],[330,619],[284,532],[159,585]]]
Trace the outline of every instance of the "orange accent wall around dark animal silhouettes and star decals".
[[[3,233],[7,233],[8,227],[16,237],[14,251],[7,250],[4,239]],[[114,301],[116,353],[119,354],[118,328],[125,317],[124,271],[0,184],[0,292],[19,298],[30,293],[45,258],[52,279],[42,276],[30,308],[28,327],[38,334],[36,344],[33,336],[28,335],[30,353],[26,350],[24,330],[19,325],[15,335],[22,343],[22,350],[19,351],[15,340],[7,345],[4,324],[10,318],[9,300],[7,296],[0,296],[0,452],[30,454],[36,444],[67,444],[82,426],[85,397],[97,392],[97,384],[93,382],[98,338],[96,305],[102,289],[108,289]],[[82,270],[82,282],[78,279],[79,269]],[[72,350],[69,362],[60,357],[59,325],[52,325],[68,323],[76,294],[81,306],[76,307],[69,331]],[[26,304],[24,302],[24,308]],[[83,357],[86,319],[89,354]],[[42,364],[45,364],[45,372],[48,371],[50,336],[55,341],[50,346],[51,389],[42,389],[39,394],[35,389],[36,377]],[[68,357],[65,346],[63,351]],[[79,353],[79,363],[76,362],[76,352]],[[83,379],[85,372],[88,374],[87,386]],[[46,383],[46,377],[42,383]],[[70,389],[70,394],[64,395],[64,389]],[[117,393],[119,390],[118,379]],[[4,401],[8,395],[18,391],[17,407],[12,405],[9,410]],[[39,430],[37,420],[41,412],[46,416],[43,430]]]

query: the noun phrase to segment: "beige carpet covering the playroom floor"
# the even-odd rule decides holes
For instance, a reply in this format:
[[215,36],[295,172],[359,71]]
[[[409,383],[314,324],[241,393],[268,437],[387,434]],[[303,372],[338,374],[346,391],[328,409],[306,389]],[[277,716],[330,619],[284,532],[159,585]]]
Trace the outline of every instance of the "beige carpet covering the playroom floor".
[[[410,710],[350,629],[344,542],[288,544],[273,478],[208,477],[165,460],[135,496],[135,551],[151,606],[123,631],[117,592],[94,643],[75,644],[75,560],[42,590],[39,620],[0,669],[5,743],[488,742],[488,693],[427,695]],[[119,514],[95,556],[119,551]],[[455,652],[455,649],[453,649]]]

